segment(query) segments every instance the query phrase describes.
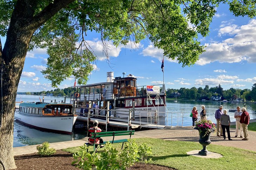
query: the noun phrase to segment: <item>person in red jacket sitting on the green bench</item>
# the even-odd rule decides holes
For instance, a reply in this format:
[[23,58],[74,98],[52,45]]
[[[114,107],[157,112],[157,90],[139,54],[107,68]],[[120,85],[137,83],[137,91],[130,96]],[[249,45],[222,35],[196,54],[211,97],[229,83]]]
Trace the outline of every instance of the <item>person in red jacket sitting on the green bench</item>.
[[[98,124],[99,124],[98,120],[94,120],[93,121],[93,127],[90,127],[89,130],[88,130],[87,137],[89,137],[88,138],[89,144],[94,143],[94,138],[92,138],[92,133],[93,132],[95,132],[95,133],[96,132],[101,132],[101,129],[98,127]],[[97,143],[97,144],[103,143],[103,139],[102,138],[96,138],[95,143]],[[97,152],[97,147],[98,147],[98,145],[95,145],[95,148],[96,148],[95,152]],[[103,147],[104,147],[104,145],[100,145],[100,148],[103,148]]]

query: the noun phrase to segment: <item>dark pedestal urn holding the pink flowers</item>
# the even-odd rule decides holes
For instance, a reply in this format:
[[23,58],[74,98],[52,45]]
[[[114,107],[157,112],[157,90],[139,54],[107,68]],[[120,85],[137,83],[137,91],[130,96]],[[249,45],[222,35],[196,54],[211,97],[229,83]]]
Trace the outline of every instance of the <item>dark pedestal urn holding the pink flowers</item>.
[[204,156],[210,155],[211,152],[209,152],[206,149],[206,147],[207,147],[207,145],[210,145],[210,143],[211,143],[211,140],[210,140],[211,132],[207,133],[207,131],[201,131],[201,132],[199,131],[199,136],[200,136],[200,139],[198,141],[203,146],[203,149],[201,151],[199,151],[198,154],[204,155]]

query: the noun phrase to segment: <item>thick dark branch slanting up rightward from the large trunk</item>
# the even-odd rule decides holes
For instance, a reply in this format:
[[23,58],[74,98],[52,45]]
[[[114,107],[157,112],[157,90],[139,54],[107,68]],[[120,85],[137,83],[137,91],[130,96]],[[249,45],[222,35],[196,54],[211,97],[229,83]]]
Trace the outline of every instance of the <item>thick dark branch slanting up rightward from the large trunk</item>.
[[35,29],[39,28],[43,23],[49,20],[52,16],[59,12],[62,8],[75,0],[54,0],[45,7],[39,14],[33,17],[32,25]]

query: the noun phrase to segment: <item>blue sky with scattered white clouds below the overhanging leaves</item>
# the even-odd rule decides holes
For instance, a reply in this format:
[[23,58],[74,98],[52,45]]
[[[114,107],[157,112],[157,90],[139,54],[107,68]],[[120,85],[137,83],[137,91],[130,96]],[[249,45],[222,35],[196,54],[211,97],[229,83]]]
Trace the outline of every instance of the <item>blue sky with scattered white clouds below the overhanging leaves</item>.
[[[137,77],[137,86],[163,83],[163,50],[154,48],[148,40],[141,41],[136,50],[131,49],[130,44],[111,47],[108,64],[102,54],[100,35],[92,32],[86,39],[98,58],[87,84],[106,82],[107,72],[114,72],[114,77],[123,76],[123,72],[125,76],[132,74]],[[1,37],[1,40],[4,44],[5,39]],[[251,89],[256,83],[256,17],[235,17],[227,5],[221,5],[210,25],[209,35],[200,42],[207,46],[206,52],[191,67],[182,68],[177,61],[164,57],[166,89],[215,87],[218,84],[224,90],[231,87]],[[46,68],[47,57],[46,49],[27,52],[18,92],[55,89],[41,73]],[[73,85],[74,77],[69,77],[59,88]]]

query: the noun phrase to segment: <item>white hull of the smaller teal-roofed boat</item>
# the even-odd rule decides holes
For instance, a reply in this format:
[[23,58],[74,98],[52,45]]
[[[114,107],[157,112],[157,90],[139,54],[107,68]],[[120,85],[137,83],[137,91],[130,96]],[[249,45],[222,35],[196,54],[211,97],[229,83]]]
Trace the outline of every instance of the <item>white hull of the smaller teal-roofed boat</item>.
[[15,112],[14,118],[28,126],[70,134],[72,133],[77,116],[43,116]]

